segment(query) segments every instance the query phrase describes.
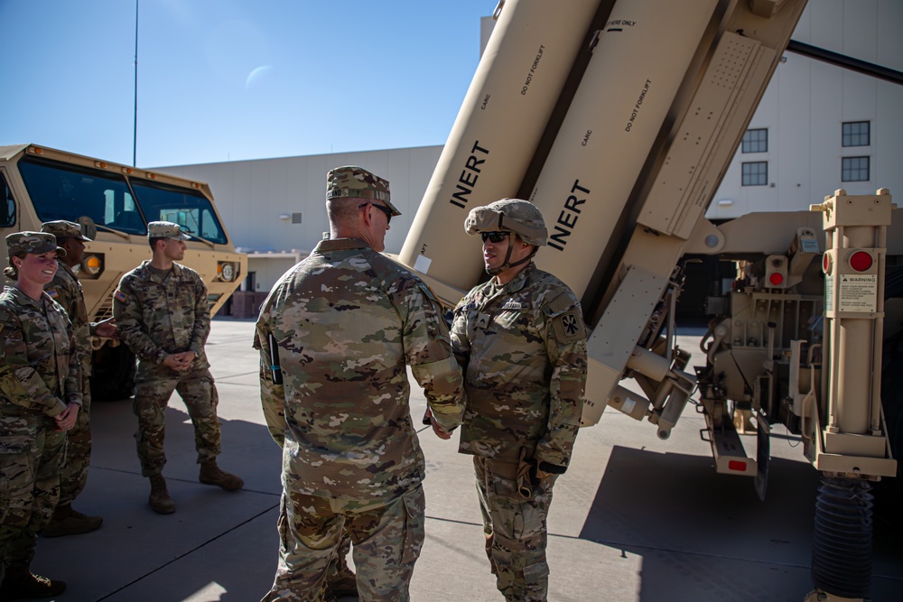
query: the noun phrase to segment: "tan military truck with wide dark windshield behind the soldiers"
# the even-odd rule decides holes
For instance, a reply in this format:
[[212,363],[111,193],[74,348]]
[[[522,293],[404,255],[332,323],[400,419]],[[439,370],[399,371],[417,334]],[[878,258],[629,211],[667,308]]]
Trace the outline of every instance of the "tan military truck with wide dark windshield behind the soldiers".
[[[182,263],[207,282],[211,313],[223,307],[247,272],[247,256],[236,253],[206,183],[36,144],[0,146],[0,236],[40,230],[53,219],[79,222],[93,239],[79,267],[91,320],[112,315],[119,279],[150,258],[150,221],[172,221],[191,234]],[[5,245],[3,253],[6,265]],[[95,397],[127,397],[135,357],[116,341],[98,340],[96,347]]]

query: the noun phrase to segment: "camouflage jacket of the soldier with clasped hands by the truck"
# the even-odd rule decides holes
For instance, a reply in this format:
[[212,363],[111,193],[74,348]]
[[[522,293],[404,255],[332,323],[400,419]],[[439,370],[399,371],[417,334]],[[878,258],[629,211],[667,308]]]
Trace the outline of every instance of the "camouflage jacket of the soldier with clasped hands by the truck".
[[167,355],[191,349],[198,356],[195,366],[208,366],[207,285],[197,272],[180,264],[172,264],[172,272],[161,282],[147,267],[150,263],[144,261],[126,273],[113,295],[119,338],[145,362],[160,364]]

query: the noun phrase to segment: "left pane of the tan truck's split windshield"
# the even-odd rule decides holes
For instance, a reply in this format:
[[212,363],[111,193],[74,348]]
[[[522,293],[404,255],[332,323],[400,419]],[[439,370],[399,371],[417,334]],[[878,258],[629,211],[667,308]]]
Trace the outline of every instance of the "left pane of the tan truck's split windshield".
[[42,222],[74,222],[88,216],[99,226],[128,234],[147,234],[123,175],[34,157],[23,157],[19,171]]

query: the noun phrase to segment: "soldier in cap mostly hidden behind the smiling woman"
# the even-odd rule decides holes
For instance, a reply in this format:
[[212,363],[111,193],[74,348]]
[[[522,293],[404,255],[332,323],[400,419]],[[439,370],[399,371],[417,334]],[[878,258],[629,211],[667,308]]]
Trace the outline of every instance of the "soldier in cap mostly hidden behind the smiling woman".
[[112,319],[100,322],[88,320],[85,294],[81,291],[79,277],[73,271],[84,259],[84,241],[90,242],[91,239],[81,233],[79,224],[62,219],[42,224],[41,231],[56,236],[57,245],[66,250],[66,255],[60,259],[60,269],[44,290],[69,315],[81,358],[81,412],[79,421],[67,434],[66,461],[60,472],[60,502],[43,531],[44,537],[59,537],[88,533],[103,523],[99,516],[86,516],[73,510],[72,502],[85,489],[91,464],[91,386],[88,380],[91,375],[91,336],[115,338],[117,335]]

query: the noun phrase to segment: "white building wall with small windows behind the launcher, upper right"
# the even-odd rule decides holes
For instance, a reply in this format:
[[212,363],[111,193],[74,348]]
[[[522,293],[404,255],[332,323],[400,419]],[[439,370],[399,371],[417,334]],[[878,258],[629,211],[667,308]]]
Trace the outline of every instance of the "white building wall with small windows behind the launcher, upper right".
[[[903,71],[903,2],[810,0],[793,39]],[[903,86],[786,52],[750,128],[768,128],[768,153],[740,153],[708,218],[798,211],[834,190],[903,199]],[[869,146],[843,147],[842,123],[870,122]],[[841,181],[842,157],[869,156],[870,180]],[[767,161],[768,185],[741,186],[742,162]]]

